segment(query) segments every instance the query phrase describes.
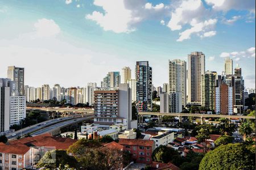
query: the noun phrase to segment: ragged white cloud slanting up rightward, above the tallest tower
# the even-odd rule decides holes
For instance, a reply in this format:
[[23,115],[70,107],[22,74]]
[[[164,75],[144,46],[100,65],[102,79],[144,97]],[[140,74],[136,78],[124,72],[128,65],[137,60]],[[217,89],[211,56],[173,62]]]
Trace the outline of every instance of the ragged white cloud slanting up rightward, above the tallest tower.
[[[209,29],[212,29],[215,24],[217,23],[217,19],[209,19],[209,20],[205,20],[204,22],[200,22],[197,23],[197,21],[195,19],[192,20],[191,25],[192,27],[189,29],[186,29],[185,31],[179,33],[180,37],[179,39],[177,39],[177,41],[183,41],[183,40],[187,40],[187,39],[191,39],[191,35],[195,34],[195,33],[203,33]],[[215,35],[216,32],[208,32],[206,35],[207,36],[213,36]],[[204,37],[204,35],[201,37]]]

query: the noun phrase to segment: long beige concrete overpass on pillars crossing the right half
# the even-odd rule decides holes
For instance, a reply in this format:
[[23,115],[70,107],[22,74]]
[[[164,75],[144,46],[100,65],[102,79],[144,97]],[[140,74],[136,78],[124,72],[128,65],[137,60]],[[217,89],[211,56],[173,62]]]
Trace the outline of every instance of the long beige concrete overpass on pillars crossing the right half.
[[177,116],[179,117],[179,121],[182,121],[182,117],[200,117],[201,124],[203,124],[204,119],[206,117],[218,117],[218,118],[228,118],[229,120],[232,118],[248,118],[255,119],[255,116],[242,116],[242,115],[227,115],[227,114],[197,114],[197,113],[160,113],[160,112],[139,112],[139,122],[142,122],[143,116],[146,115],[154,115],[158,116],[160,120],[163,116]]

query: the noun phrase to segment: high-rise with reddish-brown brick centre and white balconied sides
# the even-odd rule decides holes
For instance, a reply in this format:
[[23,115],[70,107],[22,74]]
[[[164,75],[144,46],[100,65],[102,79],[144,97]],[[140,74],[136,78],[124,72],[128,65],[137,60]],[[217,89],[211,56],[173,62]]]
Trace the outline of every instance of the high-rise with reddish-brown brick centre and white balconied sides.
[[233,114],[233,87],[220,84],[215,88],[214,100],[217,114]]

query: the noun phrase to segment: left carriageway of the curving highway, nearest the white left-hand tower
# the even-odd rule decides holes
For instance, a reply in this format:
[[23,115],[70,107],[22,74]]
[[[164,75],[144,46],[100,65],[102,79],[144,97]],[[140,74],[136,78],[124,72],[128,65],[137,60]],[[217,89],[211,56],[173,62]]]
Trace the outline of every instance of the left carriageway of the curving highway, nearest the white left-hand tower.
[[82,121],[82,120],[84,120],[83,118],[86,118],[86,117],[65,117],[65,118],[57,118],[54,120],[44,121],[44,122],[41,122],[40,124],[35,124],[32,126],[28,126],[27,128],[17,130],[12,134],[6,135],[6,137],[8,138],[8,140],[13,140],[13,139],[16,139],[18,136],[21,137],[28,133],[32,134],[33,132],[41,130],[41,129],[42,130],[45,128],[48,129],[48,127],[51,127],[52,125],[60,126],[61,124],[64,124],[65,122],[71,122],[71,121],[74,122],[75,119],[78,121],[80,121],[80,120]]

